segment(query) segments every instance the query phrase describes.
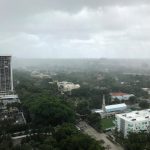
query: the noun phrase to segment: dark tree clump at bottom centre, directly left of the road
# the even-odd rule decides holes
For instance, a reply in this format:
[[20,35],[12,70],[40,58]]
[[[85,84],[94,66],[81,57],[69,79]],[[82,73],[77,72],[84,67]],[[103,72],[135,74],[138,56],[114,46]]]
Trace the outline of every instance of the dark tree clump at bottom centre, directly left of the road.
[[101,144],[80,133],[72,124],[64,124],[54,134],[61,150],[103,150]]

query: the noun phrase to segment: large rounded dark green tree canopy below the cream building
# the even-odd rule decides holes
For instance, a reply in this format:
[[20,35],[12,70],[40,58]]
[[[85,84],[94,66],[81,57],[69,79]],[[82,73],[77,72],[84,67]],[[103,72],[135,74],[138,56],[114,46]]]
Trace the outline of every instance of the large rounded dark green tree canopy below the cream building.
[[46,99],[36,101],[31,106],[34,115],[33,123],[38,125],[59,125],[64,122],[75,121],[75,112],[57,99]]

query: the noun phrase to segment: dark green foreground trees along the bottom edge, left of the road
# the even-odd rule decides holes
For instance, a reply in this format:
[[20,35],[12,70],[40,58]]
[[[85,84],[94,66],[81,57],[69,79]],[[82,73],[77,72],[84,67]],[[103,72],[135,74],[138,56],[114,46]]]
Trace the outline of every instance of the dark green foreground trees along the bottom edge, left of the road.
[[58,126],[51,135],[36,133],[13,146],[10,136],[0,139],[1,150],[104,150],[99,142],[79,132],[73,124]]

